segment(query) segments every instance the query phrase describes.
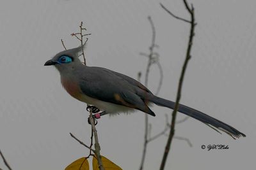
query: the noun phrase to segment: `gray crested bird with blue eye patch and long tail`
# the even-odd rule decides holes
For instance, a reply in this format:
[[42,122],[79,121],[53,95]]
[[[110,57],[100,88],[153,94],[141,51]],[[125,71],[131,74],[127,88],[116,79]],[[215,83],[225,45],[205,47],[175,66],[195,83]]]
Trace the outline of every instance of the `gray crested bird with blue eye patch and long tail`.
[[[44,66],[54,65],[58,69],[61,84],[72,97],[109,114],[140,110],[155,117],[155,113],[148,108],[150,103],[174,108],[173,101],[154,96],[150,90],[129,76],[102,67],[85,66],[79,60],[79,52],[82,48],[79,46],[64,50],[44,64]],[[234,127],[183,104],[179,104],[178,111],[211,127],[216,127],[233,138],[245,137],[245,134]]]

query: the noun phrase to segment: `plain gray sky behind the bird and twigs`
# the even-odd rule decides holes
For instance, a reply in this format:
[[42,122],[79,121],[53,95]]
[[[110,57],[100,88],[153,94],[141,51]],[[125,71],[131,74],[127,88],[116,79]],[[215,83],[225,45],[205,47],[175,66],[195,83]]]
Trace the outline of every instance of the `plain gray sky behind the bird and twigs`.
[[[44,62],[79,45],[70,34],[81,21],[92,33],[86,49],[89,66],[100,66],[137,77],[145,73],[151,29],[156,26],[164,81],[160,97],[175,100],[177,82],[188,41],[189,25],[163,11],[159,2],[188,18],[182,1],[7,1],[0,6],[0,148],[13,169],[64,169],[88,150],[90,126],[85,104],[68,96],[60,76]],[[176,127],[166,169],[244,169],[255,167],[256,2],[189,1],[195,6],[196,36],[181,103],[204,111],[246,134],[234,140],[190,118]],[[144,75],[144,74],[143,74]],[[144,76],[142,77],[142,80]],[[149,88],[157,89],[157,67],[150,72]],[[154,106],[152,135],[164,128],[164,114]],[[184,118],[179,114],[177,119]],[[102,155],[123,169],[140,166],[144,113],[102,117],[97,125]],[[166,137],[148,145],[145,169],[159,169]],[[228,150],[202,150],[201,145],[223,144]],[[0,167],[5,168],[0,160]]]

